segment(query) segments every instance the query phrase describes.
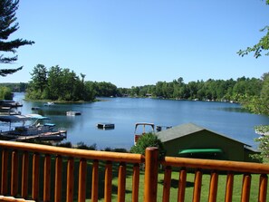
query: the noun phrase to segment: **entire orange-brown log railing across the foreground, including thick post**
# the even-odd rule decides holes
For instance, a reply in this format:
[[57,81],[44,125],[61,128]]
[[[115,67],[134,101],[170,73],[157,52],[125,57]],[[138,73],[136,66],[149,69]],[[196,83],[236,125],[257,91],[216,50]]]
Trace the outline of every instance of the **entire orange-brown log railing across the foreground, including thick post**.
[[[216,201],[218,177],[221,171],[227,173],[226,202],[232,201],[235,173],[244,174],[242,202],[249,201],[252,174],[260,175],[259,194],[256,201],[265,202],[267,196],[269,166],[264,164],[172,157],[159,160],[159,151],[156,148],[146,149],[146,154],[143,156],[0,141],[0,149],[2,151],[0,201],[85,201],[86,198],[91,198],[91,201],[95,202],[103,198],[106,202],[138,202],[141,201],[139,200],[139,186],[141,186],[140,178],[143,177],[142,200],[168,202],[170,201],[172,172],[179,174],[178,201],[186,201],[186,198],[189,201],[191,196],[186,196],[189,169],[195,173],[191,201],[201,200],[204,170],[211,172],[208,185],[208,201],[210,202]],[[145,163],[145,171],[141,174],[140,164],[143,163]],[[130,165],[131,170],[129,170]],[[115,166],[116,174],[114,173]],[[162,198],[158,197],[157,193],[160,171],[164,173]],[[77,175],[76,172],[78,172]],[[100,183],[101,173],[104,175],[102,183]],[[125,198],[128,173],[132,178],[131,198]],[[87,176],[91,176],[90,186]],[[112,192],[115,192],[112,179],[115,177],[118,180],[117,197],[112,196]],[[100,197],[101,190],[102,197]]]

